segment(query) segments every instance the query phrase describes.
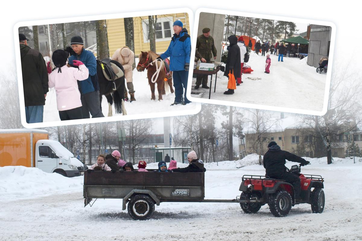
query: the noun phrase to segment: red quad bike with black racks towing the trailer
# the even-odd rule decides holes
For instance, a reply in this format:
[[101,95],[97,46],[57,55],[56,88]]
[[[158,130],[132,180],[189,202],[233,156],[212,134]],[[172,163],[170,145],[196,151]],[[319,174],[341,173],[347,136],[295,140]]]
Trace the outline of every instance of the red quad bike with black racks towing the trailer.
[[269,178],[268,176],[244,175],[240,185],[242,191],[240,206],[247,214],[256,213],[262,205],[268,203],[270,212],[276,217],[287,216],[291,207],[300,203],[309,203],[313,213],[321,213],[324,209],[323,178],[319,175],[303,175],[300,166],[293,165],[287,171],[300,178],[300,197],[302,201],[295,202],[294,188],[285,180]]

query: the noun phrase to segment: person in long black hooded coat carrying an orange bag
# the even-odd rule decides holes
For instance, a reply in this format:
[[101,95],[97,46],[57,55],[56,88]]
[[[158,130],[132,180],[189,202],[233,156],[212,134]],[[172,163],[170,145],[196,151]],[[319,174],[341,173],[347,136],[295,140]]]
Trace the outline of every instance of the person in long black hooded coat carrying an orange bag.
[[[237,37],[235,35],[231,35],[227,38],[229,40],[230,45],[228,46],[228,53],[226,59],[226,66],[224,76],[228,76],[230,70],[234,73],[234,77],[241,77],[241,58],[240,58],[240,48],[237,46]],[[228,89],[224,94],[232,95],[234,94],[234,90]]]

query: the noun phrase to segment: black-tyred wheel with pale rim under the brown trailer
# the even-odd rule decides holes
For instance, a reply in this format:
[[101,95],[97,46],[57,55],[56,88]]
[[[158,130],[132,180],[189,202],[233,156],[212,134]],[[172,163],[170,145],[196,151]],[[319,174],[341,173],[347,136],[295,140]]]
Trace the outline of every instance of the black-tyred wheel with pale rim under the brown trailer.
[[155,203],[148,195],[135,195],[129,201],[127,211],[134,220],[147,220],[155,211]]

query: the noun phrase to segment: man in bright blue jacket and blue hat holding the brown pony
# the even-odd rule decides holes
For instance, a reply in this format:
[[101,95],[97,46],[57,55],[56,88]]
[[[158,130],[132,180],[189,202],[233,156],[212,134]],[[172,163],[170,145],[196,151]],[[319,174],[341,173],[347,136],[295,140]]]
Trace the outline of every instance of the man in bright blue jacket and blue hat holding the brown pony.
[[180,20],[173,23],[173,31],[174,35],[168,49],[159,57],[159,59],[170,57],[170,71],[173,71],[172,78],[175,87],[175,101],[171,104],[172,106],[190,103],[190,100],[186,98],[186,88],[191,55],[190,35],[188,35],[187,29],[183,29]]

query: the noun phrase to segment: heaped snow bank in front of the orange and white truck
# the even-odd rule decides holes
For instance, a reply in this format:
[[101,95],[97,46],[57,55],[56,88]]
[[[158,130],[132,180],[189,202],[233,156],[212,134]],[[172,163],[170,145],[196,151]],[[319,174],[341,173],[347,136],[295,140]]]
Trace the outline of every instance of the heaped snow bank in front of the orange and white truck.
[[0,167],[0,200],[23,199],[83,188],[83,176],[64,177],[35,167]]

